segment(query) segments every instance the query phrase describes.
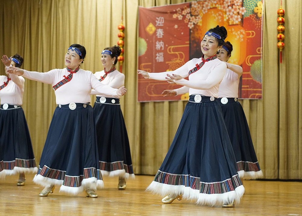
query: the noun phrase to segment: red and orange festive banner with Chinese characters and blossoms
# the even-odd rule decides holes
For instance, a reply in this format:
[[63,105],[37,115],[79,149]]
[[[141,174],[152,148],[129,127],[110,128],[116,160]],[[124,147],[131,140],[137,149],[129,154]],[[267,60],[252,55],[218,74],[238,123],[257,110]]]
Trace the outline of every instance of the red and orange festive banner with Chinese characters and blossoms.
[[[204,0],[139,7],[138,67],[147,72],[175,70],[202,56],[204,33],[224,26],[233,45],[230,63],[243,67],[239,98],[262,98],[262,1]],[[187,100],[188,94],[163,97],[180,85],[138,77],[138,101]]]

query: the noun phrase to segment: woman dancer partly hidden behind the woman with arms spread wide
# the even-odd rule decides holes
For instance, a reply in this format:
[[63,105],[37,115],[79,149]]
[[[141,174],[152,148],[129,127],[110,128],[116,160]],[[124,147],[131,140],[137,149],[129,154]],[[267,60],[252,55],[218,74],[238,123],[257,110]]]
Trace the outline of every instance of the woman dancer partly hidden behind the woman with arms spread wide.
[[[123,86],[125,81],[125,75],[115,69],[120,52],[118,46],[105,48],[101,56],[104,70],[94,74],[101,83],[112,88]],[[120,97],[100,94],[95,90],[92,90],[91,94],[97,96],[93,110],[101,173],[118,176],[117,188],[124,190],[127,179],[129,176],[134,178],[134,174],[127,130],[120,110]]]

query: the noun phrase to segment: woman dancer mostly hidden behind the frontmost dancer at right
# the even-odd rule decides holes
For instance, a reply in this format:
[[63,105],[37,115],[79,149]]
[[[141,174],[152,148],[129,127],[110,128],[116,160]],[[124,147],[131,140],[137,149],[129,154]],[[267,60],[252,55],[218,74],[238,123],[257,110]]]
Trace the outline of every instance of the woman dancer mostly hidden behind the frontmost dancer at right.
[[[262,171],[257,160],[249,126],[241,104],[237,101],[238,85],[242,75],[242,67],[228,63],[233,51],[232,44],[224,42],[217,54],[218,59],[226,63],[227,69],[218,91],[218,102],[222,109],[224,122],[228,131],[237,161],[239,178],[256,179],[262,177]],[[175,90],[164,90],[165,96],[175,96],[187,93],[188,87]]]

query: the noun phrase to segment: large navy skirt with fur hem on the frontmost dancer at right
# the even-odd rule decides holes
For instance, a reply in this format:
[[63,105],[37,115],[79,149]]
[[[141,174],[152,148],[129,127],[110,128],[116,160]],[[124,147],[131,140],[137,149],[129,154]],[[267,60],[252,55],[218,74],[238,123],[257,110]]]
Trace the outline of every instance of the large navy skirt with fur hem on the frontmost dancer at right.
[[239,202],[244,187],[220,106],[216,99],[207,100],[210,97],[201,96],[202,103],[194,103],[193,98],[147,190],[162,196],[182,194],[199,205]]

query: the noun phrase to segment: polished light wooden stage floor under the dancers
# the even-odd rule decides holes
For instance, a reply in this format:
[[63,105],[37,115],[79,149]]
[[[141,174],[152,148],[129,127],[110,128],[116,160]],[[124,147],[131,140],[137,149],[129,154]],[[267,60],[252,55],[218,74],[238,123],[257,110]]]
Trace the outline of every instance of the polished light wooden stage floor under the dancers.
[[77,196],[59,193],[39,197],[43,189],[26,175],[25,186],[16,186],[18,176],[0,180],[0,215],[302,215],[302,182],[244,181],[245,194],[235,208],[197,206],[175,200],[163,204],[161,197],[145,192],[153,176],[137,175],[126,190],[117,189],[118,178],[104,177],[98,198],[85,192]]

